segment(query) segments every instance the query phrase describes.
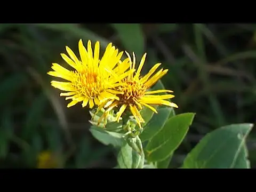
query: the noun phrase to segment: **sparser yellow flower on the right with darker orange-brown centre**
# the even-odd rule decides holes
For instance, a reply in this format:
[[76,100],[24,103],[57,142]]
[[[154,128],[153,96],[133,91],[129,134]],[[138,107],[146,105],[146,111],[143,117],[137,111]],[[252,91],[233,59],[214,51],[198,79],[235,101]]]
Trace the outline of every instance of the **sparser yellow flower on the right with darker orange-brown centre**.
[[[133,53],[133,61],[129,53],[126,52],[126,54],[130,61],[130,69],[135,69],[135,54]],[[115,87],[116,91],[123,92],[123,94],[116,94],[119,99],[111,101],[111,104],[107,106],[107,110],[105,111],[105,115],[103,116],[106,116],[109,111],[112,110],[114,107],[119,107],[119,111],[117,112],[116,117],[116,121],[119,122],[119,119],[121,118],[124,111],[129,108],[139,127],[141,128],[141,123],[144,123],[145,121],[140,115],[139,110],[141,110],[143,106],[148,107],[155,113],[157,113],[157,110],[150,105],[165,105],[178,108],[175,103],[166,100],[173,98],[174,95],[154,95],[155,93],[172,93],[173,91],[148,91],[151,86],[153,86],[160,78],[162,78],[167,73],[168,69],[161,69],[154,74],[156,69],[161,65],[161,63],[157,63],[149,70],[147,75],[141,77],[141,69],[145,63],[145,60],[146,53],[143,55],[137,71],[121,80],[121,82],[125,84]]]

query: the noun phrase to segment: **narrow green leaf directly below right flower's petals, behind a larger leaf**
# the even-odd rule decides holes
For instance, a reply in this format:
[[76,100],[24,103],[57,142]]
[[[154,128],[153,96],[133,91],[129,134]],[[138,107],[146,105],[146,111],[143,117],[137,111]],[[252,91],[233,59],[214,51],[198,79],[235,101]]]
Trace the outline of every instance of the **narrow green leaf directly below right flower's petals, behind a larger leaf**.
[[170,107],[159,109],[158,114],[154,114],[148,124],[144,127],[143,132],[140,134],[140,139],[142,141],[147,141],[153,138],[154,135],[156,135],[157,132],[163,128],[165,122],[171,114],[171,110],[173,109]]

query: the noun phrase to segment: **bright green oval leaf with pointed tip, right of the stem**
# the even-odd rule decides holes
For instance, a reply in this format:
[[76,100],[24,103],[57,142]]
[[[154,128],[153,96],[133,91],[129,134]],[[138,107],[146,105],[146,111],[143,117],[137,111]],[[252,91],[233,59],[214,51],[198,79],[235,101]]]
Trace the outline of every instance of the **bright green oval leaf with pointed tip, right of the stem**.
[[194,113],[185,113],[169,118],[163,129],[148,142],[146,146],[147,160],[163,161],[170,156],[185,138],[194,116]]

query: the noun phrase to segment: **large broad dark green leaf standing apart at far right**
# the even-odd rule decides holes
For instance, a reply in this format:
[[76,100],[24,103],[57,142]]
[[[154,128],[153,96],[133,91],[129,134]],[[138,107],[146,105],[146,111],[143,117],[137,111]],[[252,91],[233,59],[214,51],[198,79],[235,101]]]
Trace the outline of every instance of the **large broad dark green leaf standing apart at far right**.
[[253,124],[233,124],[205,135],[184,160],[183,168],[249,168],[245,139]]

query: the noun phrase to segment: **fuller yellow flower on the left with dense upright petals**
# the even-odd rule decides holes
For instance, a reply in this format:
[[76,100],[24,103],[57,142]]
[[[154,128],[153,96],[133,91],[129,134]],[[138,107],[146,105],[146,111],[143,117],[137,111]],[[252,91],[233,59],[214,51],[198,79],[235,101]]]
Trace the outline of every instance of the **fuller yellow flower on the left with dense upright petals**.
[[[67,107],[76,105],[82,102],[82,107],[89,103],[89,107],[93,108],[94,105],[100,105],[110,99],[119,100],[114,88],[121,85],[122,78],[129,75],[129,61],[120,61],[123,52],[118,53],[118,49],[109,43],[106,47],[105,53],[101,60],[100,43],[96,42],[94,53],[92,50],[91,41],[87,42],[87,50],[85,49],[82,39],[78,43],[78,49],[81,60],[79,60],[74,52],[66,46],[66,51],[69,57],[61,53],[61,57],[65,60],[74,70],[68,70],[58,63],[52,64],[54,71],[49,71],[47,74],[55,77],[66,79],[68,82],[52,81],[51,85],[65,93],[60,93],[60,96],[66,96],[66,100],[71,99]],[[106,70],[108,69],[108,70]]]

